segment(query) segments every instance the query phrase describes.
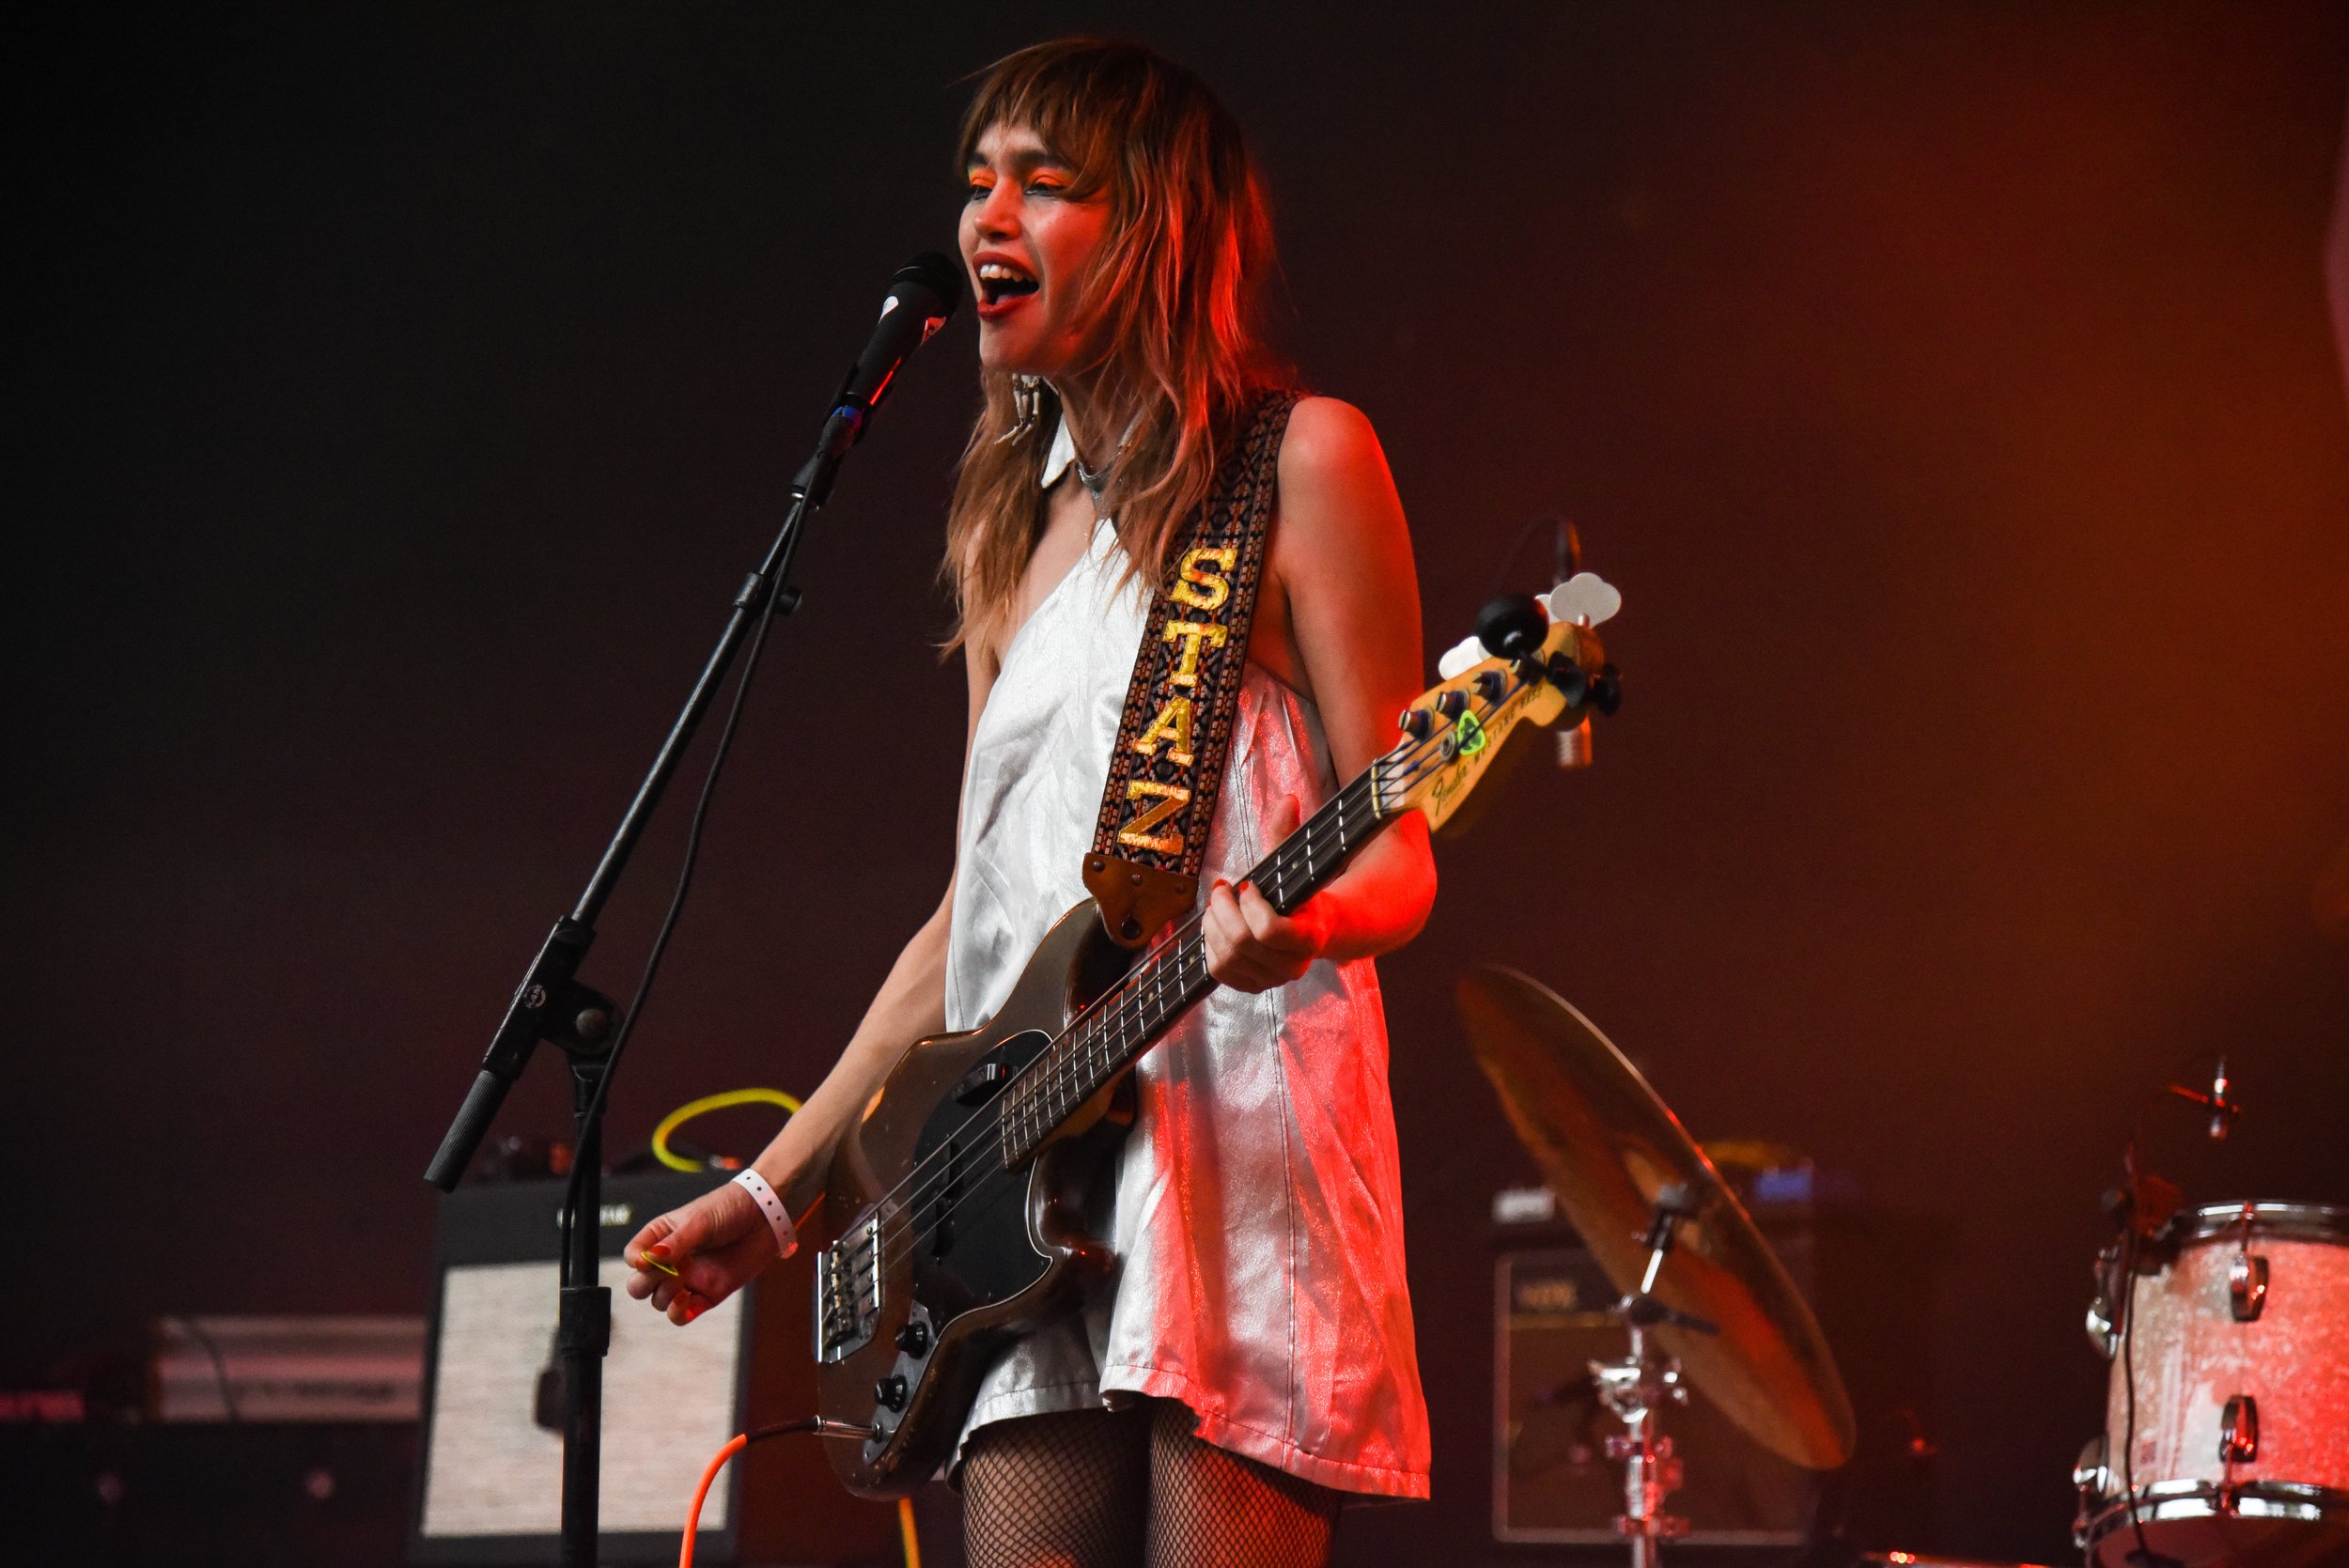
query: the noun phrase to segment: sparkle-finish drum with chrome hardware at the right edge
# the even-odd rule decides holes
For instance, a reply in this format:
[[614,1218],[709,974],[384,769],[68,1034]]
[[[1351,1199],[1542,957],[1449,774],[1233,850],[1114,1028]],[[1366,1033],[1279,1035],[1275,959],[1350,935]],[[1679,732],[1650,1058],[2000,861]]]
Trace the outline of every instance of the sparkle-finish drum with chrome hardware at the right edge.
[[2349,1561],[2349,1209],[2194,1209],[2128,1289],[2135,1345],[2074,1474],[2091,1561],[2123,1568],[2138,1528],[2187,1568]]

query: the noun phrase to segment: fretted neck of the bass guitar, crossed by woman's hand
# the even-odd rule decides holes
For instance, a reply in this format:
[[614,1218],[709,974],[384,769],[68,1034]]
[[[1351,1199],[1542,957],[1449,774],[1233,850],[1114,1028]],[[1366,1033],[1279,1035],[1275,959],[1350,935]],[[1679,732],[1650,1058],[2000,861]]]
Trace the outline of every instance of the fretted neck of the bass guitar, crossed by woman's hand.
[[[1365,768],[1247,873],[1276,911],[1294,913],[1391,822],[1379,798],[1379,770],[1402,751],[1398,746]],[[1043,1148],[1078,1106],[1106,1089],[1214,986],[1207,939],[1193,920],[1078,1014],[1003,1091],[1003,1162],[1019,1164]]]

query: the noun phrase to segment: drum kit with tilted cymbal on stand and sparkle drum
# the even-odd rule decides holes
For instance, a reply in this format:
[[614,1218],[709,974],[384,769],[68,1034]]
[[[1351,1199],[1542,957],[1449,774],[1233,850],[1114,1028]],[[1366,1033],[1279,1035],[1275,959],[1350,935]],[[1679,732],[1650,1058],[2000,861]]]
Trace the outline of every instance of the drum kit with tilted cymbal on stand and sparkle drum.
[[[1478,1063],[1534,1155],[1557,1211],[1621,1291],[1628,1350],[1593,1361],[1623,1422],[1616,1533],[1635,1568],[1684,1533],[1668,1411],[1694,1383],[1748,1437],[1830,1472],[1853,1413],[1802,1293],[1712,1162],[1640,1070],[1569,1002],[1496,965],[1459,984]],[[2225,1063],[2213,1094],[2234,1117]],[[2095,1568],[2318,1568],[2349,1563],[2349,1209],[2232,1202],[2182,1209],[2138,1171],[2100,1261],[2091,1338],[2112,1357],[2105,1434],[2088,1444],[2077,1545]],[[1856,1559],[1823,1542],[1813,1561]]]

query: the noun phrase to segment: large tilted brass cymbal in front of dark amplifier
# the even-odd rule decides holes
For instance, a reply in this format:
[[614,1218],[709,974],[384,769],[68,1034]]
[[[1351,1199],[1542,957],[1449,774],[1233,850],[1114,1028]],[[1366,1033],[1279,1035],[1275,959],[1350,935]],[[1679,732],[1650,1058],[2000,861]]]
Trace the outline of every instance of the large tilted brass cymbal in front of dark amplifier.
[[1656,1192],[1684,1183],[1696,1195],[1656,1279],[1668,1307],[1719,1324],[1656,1329],[1689,1380],[1771,1453],[1809,1469],[1849,1460],[1851,1399],[1818,1319],[1640,1068],[1515,969],[1470,969],[1459,1009],[1501,1110],[1616,1291],[1640,1289]]

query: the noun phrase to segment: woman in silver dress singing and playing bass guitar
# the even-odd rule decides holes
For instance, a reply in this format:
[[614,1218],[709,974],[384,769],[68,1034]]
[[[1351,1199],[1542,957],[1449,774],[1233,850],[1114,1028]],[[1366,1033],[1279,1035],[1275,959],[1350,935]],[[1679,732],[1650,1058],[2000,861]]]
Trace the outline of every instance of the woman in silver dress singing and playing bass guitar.
[[[961,254],[984,408],[947,568],[970,678],[954,878],[839,1063],[754,1169],[789,1211],[909,1042],[984,1021],[1081,861],[1151,587],[1250,408],[1290,387],[1240,129],[1123,42],[1022,49],[963,122]],[[1116,1174],[1116,1279],[994,1364],[963,1430],[975,1568],[1322,1563],[1346,1493],[1423,1498],[1402,1199],[1372,958],[1435,897],[1412,812],[1283,918],[1240,883],[1395,737],[1421,688],[1419,587],[1369,423],[1306,397],[1276,514],[1203,885],[1224,984],[1142,1059]],[[1240,885],[1233,885],[1240,883]],[[723,1185],[646,1225],[691,1322],[778,1256]]]

